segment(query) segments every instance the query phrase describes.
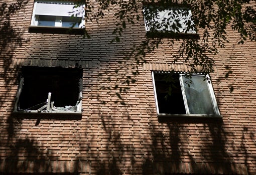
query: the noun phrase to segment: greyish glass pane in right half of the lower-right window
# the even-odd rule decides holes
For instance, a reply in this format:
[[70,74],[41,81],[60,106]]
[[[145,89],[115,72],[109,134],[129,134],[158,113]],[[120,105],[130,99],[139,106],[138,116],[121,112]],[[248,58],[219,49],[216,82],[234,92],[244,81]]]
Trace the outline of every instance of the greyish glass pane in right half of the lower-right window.
[[215,114],[204,76],[182,76],[190,114]]

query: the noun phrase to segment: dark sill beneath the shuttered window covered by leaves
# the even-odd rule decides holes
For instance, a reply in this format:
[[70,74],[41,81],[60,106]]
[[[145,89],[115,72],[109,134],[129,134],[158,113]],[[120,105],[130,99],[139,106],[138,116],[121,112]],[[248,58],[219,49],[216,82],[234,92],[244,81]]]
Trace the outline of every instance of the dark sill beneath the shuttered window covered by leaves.
[[200,39],[198,33],[147,32],[147,38]]

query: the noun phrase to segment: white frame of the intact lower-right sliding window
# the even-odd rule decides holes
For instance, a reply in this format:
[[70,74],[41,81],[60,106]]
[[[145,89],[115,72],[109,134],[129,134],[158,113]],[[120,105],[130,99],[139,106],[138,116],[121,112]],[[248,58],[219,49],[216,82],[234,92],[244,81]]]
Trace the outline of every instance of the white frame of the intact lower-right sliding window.
[[[170,113],[160,113],[159,112],[159,103],[158,103],[158,98],[157,98],[157,89],[156,89],[156,83],[155,83],[155,76],[154,73],[163,73],[163,74],[179,74],[179,82],[181,85],[181,91],[182,91],[182,97],[184,100],[184,105],[185,105],[185,110],[186,110],[186,114],[170,114]],[[208,83],[207,84],[207,88],[208,88],[208,92],[209,95],[211,97],[211,102],[213,105],[213,110],[215,112],[215,114],[191,114],[189,111],[189,106],[188,106],[188,102],[187,102],[187,97],[186,97],[186,93],[185,93],[185,87],[184,87],[184,81],[183,81],[183,76],[186,75],[186,73],[182,73],[182,72],[166,72],[166,71],[152,71],[152,82],[153,82],[153,89],[154,89],[154,97],[155,97],[155,103],[156,103],[156,109],[157,109],[157,116],[179,116],[179,117],[221,117],[220,115],[220,111],[218,109],[218,104],[217,104],[217,100],[216,97],[214,95],[214,90],[212,87],[212,83],[210,80],[210,76],[208,74],[203,74],[203,73],[198,73],[198,74],[192,74],[191,76],[205,76],[207,78]]]

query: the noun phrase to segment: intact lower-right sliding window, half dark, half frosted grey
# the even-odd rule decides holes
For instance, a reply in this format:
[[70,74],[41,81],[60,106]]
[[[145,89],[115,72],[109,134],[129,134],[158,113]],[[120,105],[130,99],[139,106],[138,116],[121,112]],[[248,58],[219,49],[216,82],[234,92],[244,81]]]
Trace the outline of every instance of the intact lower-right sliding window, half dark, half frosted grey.
[[208,75],[152,72],[158,115],[220,115]]

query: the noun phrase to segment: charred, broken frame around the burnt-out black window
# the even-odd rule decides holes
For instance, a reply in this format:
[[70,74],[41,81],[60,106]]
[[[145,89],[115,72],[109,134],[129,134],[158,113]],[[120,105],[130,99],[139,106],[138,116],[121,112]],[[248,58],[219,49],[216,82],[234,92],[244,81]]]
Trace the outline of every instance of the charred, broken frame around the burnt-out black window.
[[[20,108],[20,98],[21,98],[21,94],[22,94],[22,90],[23,90],[23,86],[24,86],[24,76],[23,76],[23,70],[22,69],[30,69],[32,66],[24,66],[21,68],[21,75],[20,75],[20,81],[19,81],[19,86],[18,86],[18,90],[17,90],[17,94],[16,94],[16,100],[15,100],[15,105],[14,105],[14,113],[16,114],[37,114],[37,115],[45,115],[45,114],[78,114],[78,115],[81,115],[82,114],[82,90],[83,90],[83,70],[80,69],[80,68],[60,68],[60,67],[39,67],[40,69],[73,69],[71,71],[76,72],[77,74],[81,74],[79,75],[79,77],[77,77],[79,79],[79,82],[77,84],[78,89],[79,89],[79,92],[78,92],[78,99],[77,99],[77,104],[75,106],[72,106],[72,107],[76,107],[77,110],[74,111],[74,110],[61,110],[61,109],[52,109],[51,105],[53,105],[53,103],[51,103],[51,101],[48,101],[50,98],[49,98],[49,93],[48,93],[48,99],[45,98],[47,101],[45,102],[47,107],[43,109],[35,109],[35,110],[27,110],[27,109],[19,109]],[[36,67],[32,67],[32,69],[35,69]],[[76,70],[74,70],[76,69]],[[46,70],[40,70],[40,72],[44,72]],[[68,70],[67,70],[68,71]],[[51,96],[51,95],[50,95]],[[55,106],[54,106],[55,107]]]

